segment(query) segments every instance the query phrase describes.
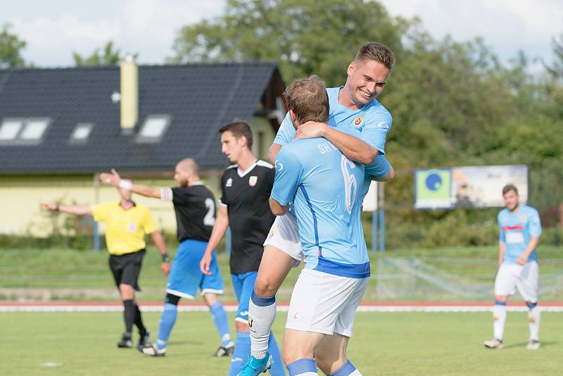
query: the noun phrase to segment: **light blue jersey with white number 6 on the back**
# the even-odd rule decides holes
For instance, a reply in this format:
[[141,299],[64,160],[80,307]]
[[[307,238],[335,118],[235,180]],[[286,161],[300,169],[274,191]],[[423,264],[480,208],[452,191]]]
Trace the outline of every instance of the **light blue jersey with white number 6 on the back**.
[[327,139],[301,139],[281,148],[272,198],[293,203],[305,268],[369,277],[360,219],[368,188],[364,165],[349,161]]

